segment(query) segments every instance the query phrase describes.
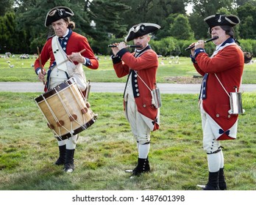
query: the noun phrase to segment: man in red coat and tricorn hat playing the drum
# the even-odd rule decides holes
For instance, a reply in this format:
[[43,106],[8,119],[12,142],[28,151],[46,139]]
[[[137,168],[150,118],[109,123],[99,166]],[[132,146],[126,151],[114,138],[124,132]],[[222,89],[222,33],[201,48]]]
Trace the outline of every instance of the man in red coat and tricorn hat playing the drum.
[[[75,23],[70,20],[73,15],[74,12],[68,7],[54,7],[46,15],[45,26],[51,26],[55,34],[49,37],[40,56],[35,60],[35,72],[38,79],[44,82],[46,70],[43,69],[43,66],[50,59],[45,92],[68,80],[71,77],[71,72],[76,72],[76,70],[82,71],[81,76],[85,78],[82,65],[93,70],[99,67],[99,62],[94,56],[87,38],[73,31]],[[83,86],[83,81],[86,80],[82,79],[79,87],[82,91],[86,88]],[[55,164],[64,165],[65,172],[74,171],[76,149],[74,141],[77,141],[77,135],[58,141],[60,157]]]

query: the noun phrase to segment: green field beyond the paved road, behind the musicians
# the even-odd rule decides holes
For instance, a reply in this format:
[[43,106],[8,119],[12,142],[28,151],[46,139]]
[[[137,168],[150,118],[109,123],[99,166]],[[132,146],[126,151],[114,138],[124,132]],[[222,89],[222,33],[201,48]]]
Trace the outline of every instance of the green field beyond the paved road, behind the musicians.
[[[34,64],[35,58],[20,59],[18,55],[10,59],[0,58],[0,82],[19,81],[37,82]],[[11,68],[10,66],[13,67]],[[49,67],[49,64],[46,64]],[[84,67],[85,68],[85,67]],[[256,64],[245,64],[243,83],[256,83]],[[99,69],[90,70],[85,68],[85,75],[91,82],[125,82],[126,78],[117,78],[113,70],[110,56],[99,56]],[[157,70],[158,83],[199,83],[200,79],[193,79],[193,75],[199,75],[193,68],[190,58],[170,57],[159,58]]]

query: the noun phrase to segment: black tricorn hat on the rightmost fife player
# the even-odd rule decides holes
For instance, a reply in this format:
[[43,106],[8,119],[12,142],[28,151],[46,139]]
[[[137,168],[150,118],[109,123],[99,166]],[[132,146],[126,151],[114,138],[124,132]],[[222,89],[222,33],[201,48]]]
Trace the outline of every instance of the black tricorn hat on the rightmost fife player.
[[210,15],[204,19],[208,24],[209,29],[212,29],[214,26],[235,26],[240,23],[240,19],[236,15]]

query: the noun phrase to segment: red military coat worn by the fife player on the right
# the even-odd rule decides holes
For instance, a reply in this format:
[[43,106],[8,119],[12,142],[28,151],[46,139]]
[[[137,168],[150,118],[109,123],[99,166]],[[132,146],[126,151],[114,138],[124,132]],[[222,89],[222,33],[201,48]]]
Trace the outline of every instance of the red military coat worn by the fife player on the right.
[[[194,67],[201,75],[208,73],[206,81],[206,99],[202,100],[202,106],[206,113],[222,128],[229,130],[238,119],[237,114],[230,114],[230,98],[222,88],[218,79],[228,93],[239,89],[243,74],[243,51],[238,45],[230,44],[218,51],[216,56],[210,58],[202,52],[196,56]],[[223,133],[227,135],[227,133]]]

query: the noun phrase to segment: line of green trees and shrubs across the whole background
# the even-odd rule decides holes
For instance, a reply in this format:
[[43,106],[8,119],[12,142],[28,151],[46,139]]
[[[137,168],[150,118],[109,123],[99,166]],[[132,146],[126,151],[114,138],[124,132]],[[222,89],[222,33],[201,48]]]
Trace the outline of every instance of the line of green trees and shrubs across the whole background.
[[[95,53],[110,54],[107,45],[124,41],[137,23],[157,23],[152,46],[163,56],[188,56],[184,49],[210,38],[204,21],[216,13],[238,15],[235,37],[246,51],[256,54],[255,0],[0,0],[0,53],[36,53],[53,33],[44,26],[46,13],[70,7],[79,34],[88,38]],[[190,13],[188,5],[193,5]],[[212,45],[207,45],[214,49]]]

